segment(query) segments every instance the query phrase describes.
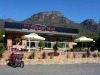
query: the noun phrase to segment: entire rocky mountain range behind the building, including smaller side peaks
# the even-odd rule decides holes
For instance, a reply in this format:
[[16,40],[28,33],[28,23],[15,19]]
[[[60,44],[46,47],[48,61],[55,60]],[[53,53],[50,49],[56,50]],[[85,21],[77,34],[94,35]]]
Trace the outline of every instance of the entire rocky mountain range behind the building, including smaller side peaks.
[[[5,21],[18,22],[10,18],[6,19]],[[100,25],[97,24],[93,19],[87,19],[81,23],[76,23],[74,21],[67,19],[62,13],[58,11],[39,12],[21,21],[21,23],[27,23],[27,24],[33,24],[33,25],[41,24],[41,25],[46,25],[46,26],[73,28],[73,29],[78,29],[79,34],[98,34],[100,33]]]

